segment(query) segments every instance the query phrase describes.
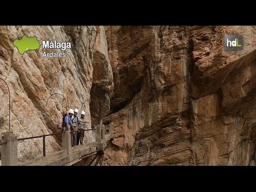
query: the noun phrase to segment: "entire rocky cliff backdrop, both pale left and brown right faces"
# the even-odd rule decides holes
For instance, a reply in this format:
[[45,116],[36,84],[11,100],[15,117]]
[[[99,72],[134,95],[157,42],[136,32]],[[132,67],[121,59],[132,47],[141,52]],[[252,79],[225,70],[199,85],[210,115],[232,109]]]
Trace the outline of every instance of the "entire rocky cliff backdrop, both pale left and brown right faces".
[[[43,58],[42,49],[20,55],[12,42],[24,34],[72,47],[65,58]],[[225,34],[243,35],[244,50],[224,52]],[[68,109],[85,111],[89,127],[102,118],[111,127],[103,165],[254,165],[255,37],[253,26],[2,26],[11,130],[18,138],[57,131],[65,100],[54,95],[45,105],[61,93]],[[6,120],[1,81],[0,94]],[[4,121],[0,133],[7,129]],[[46,152],[58,143],[47,137]],[[33,158],[42,140],[18,150],[19,161]]]

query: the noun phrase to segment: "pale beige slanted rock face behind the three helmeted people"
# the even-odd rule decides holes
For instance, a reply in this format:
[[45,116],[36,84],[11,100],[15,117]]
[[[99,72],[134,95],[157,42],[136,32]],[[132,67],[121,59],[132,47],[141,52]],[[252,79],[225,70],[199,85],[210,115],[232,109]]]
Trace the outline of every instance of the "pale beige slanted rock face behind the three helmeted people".
[[[65,51],[65,58],[43,57],[42,46],[39,50],[27,51],[21,55],[13,46],[13,41],[23,35],[36,36],[41,44],[43,40],[49,39],[70,42],[72,46]],[[79,112],[84,110],[86,121],[91,122],[88,99],[92,84],[112,89],[112,82],[110,85],[107,82],[109,78],[113,78],[111,70],[105,70],[102,78],[93,73],[93,69],[111,69],[106,51],[106,38],[104,41],[102,37],[105,37],[104,28],[95,26],[0,27],[0,77],[10,86],[11,131],[17,134],[18,138],[60,131],[61,112],[69,108],[78,108]],[[97,64],[99,55],[106,59]],[[0,85],[0,110],[4,120],[0,129],[2,133],[8,129],[8,92],[2,81]],[[67,109],[65,100],[58,94],[53,95],[46,105],[47,99],[53,93],[63,94]],[[95,111],[93,107],[91,110]],[[91,128],[91,123],[88,123],[87,127]],[[46,138],[46,153],[60,149],[58,139]],[[87,133],[86,141],[90,142],[92,139],[92,133]],[[42,155],[42,150],[42,138],[19,142],[19,161]]]

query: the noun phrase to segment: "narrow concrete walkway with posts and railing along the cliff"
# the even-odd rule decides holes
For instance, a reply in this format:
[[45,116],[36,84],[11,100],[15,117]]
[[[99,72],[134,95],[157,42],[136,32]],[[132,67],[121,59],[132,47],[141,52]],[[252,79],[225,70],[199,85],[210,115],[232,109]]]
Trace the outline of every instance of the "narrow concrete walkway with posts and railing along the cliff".
[[[99,154],[102,155],[106,148],[106,143],[112,137],[110,132],[106,134],[105,125],[97,125],[95,127],[96,127],[95,142],[85,143],[84,145],[71,147],[70,133],[64,132],[62,133],[62,150],[45,154],[45,142],[43,142],[43,145],[44,145],[43,155],[36,157],[28,162],[18,162],[18,141],[23,139],[31,139],[35,137],[17,139],[17,136],[15,136],[12,132],[2,133],[2,138],[0,142],[2,165],[3,166],[9,166],[9,165],[70,166],[81,161],[83,158],[89,157],[91,155],[95,155],[95,154],[96,156],[98,156]],[[47,135],[43,135],[43,141],[46,136]],[[41,136],[37,136],[37,137],[41,137]],[[95,158],[93,158],[93,161],[94,159]]]

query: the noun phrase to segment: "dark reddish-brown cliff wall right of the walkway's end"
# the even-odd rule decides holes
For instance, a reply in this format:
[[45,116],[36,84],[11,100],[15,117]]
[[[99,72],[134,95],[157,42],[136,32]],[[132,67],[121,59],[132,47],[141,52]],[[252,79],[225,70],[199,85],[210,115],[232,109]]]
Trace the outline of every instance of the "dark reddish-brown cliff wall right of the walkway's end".
[[[105,27],[108,165],[254,165],[256,27]],[[224,52],[224,35],[244,50]]]

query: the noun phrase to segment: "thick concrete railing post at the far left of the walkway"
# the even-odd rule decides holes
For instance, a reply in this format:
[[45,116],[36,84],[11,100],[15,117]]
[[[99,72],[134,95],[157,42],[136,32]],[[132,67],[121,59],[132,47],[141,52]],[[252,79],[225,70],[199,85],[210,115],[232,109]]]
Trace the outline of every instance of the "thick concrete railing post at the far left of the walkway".
[[11,131],[2,133],[1,141],[7,141],[1,146],[2,166],[18,165],[18,141],[17,136]]

